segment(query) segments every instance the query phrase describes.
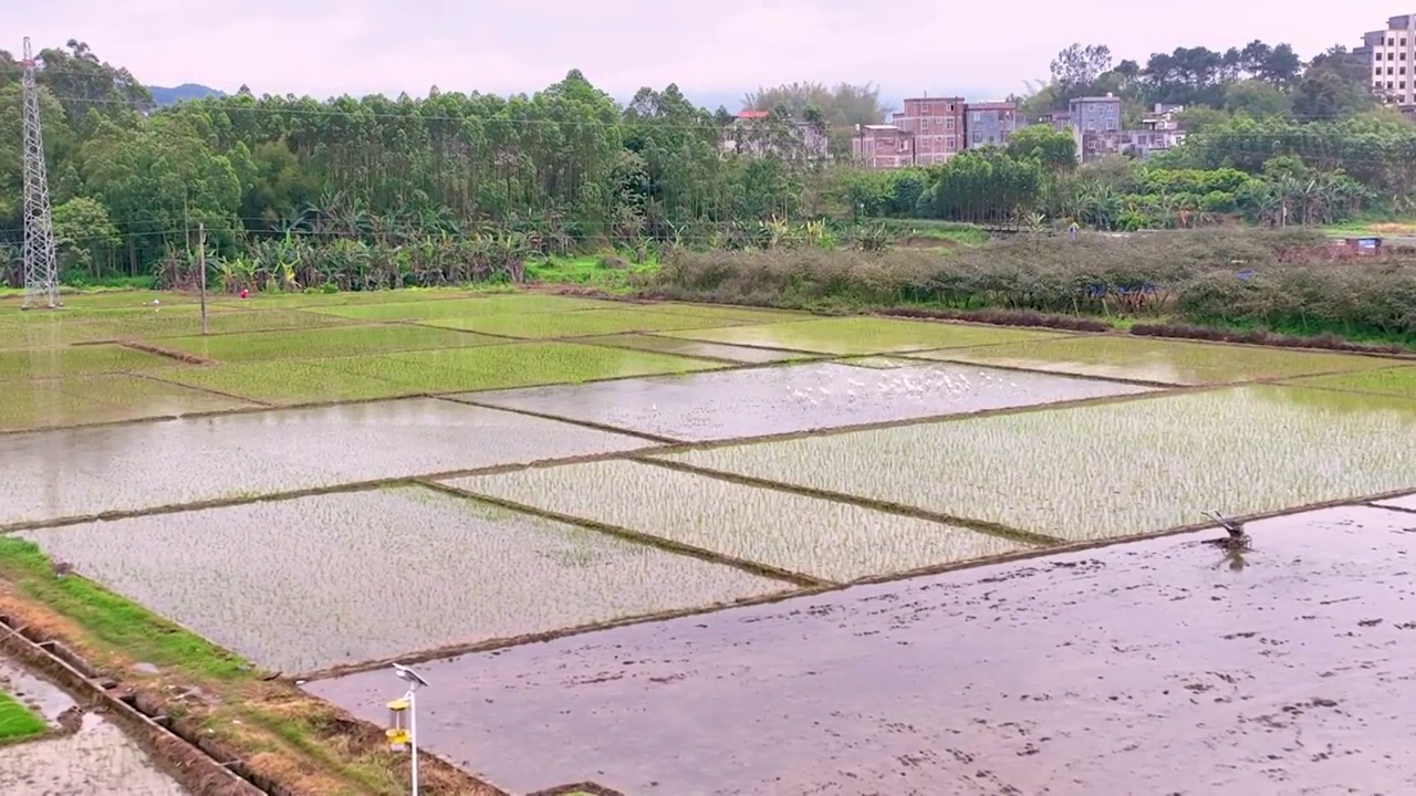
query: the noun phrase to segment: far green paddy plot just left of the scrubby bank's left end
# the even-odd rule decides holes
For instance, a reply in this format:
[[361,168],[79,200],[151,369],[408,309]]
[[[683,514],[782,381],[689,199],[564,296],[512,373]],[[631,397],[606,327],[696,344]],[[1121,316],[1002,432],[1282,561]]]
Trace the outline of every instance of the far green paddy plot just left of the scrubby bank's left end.
[[667,331],[674,329],[705,329],[728,326],[731,320],[716,320],[698,314],[661,313],[650,307],[596,309],[568,313],[491,314],[480,317],[449,317],[428,322],[443,329],[463,329],[483,334],[545,340],[551,337],[596,337],[626,331]]

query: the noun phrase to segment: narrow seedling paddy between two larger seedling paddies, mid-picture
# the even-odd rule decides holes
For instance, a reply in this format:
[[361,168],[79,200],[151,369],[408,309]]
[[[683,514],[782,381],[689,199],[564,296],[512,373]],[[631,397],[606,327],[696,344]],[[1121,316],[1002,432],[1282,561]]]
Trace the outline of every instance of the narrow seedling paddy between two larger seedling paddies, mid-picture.
[[532,467],[449,483],[823,581],[854,581],[1024,548],[966,528],[640,462]]

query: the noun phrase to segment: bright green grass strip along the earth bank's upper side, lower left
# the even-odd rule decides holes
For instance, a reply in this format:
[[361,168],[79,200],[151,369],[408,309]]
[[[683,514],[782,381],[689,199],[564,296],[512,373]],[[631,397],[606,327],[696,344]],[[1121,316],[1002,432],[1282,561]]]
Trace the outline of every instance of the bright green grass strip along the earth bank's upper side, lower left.
[[92,581],[55,578],[50,559],[28,541],[0,537],[0,575],[130,659],[212,680],[231,680],[249,669],[231,653]]

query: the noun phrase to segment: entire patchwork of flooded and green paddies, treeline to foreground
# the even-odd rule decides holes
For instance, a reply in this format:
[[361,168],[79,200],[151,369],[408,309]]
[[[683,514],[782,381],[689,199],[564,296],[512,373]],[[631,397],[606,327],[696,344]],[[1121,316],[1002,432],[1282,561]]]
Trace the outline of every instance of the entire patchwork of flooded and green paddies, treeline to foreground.
[[508,792],[1416,790],[1413,360],[152,300],[0,314],[0,533]]

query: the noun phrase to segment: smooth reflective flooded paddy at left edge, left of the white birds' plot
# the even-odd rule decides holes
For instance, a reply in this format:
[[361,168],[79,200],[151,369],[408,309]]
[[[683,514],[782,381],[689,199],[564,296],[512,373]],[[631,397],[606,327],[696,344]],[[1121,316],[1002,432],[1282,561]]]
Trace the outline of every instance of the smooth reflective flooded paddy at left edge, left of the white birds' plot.
[[0,435],[0,524],[624,452],[615,433],[416,398]]

